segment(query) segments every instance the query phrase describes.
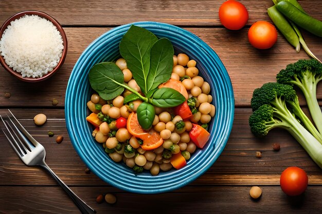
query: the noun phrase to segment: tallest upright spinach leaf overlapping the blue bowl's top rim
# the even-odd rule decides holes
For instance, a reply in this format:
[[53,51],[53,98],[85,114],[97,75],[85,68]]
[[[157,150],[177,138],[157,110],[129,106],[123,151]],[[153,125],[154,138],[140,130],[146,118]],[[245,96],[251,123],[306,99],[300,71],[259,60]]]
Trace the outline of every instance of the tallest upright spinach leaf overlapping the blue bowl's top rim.
[[157,37],[144,28],[132,25],[120,42],[120,53],[144,94],[148,93],[147,78],[150,70],[150,50]]

